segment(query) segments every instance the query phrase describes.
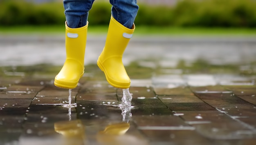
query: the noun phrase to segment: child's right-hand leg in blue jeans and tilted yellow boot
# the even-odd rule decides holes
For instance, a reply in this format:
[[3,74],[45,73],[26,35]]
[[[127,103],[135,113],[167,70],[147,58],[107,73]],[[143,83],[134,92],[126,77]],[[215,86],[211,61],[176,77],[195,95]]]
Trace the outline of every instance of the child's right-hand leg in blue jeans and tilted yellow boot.
[[122,62],[122,56],[132,33],[137,15],[136,0],[110,0],[112,16],[108,28],[106,44],[97,65],[104,72],[108,83],[114,87],[130,87],[130,78]]

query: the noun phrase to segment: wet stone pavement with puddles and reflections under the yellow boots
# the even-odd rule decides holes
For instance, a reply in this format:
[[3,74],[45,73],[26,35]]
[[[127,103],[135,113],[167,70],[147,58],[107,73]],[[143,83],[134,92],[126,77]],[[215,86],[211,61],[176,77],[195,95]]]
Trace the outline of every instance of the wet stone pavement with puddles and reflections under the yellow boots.
[[[132,108],[96,60],[88,39],[85,74],[72,103],[53,85],[63,37],[1,36],[0,145],[254,145],[256,39],[135,37],[124,55]],[[88,57],[87,57],[88,56]]]

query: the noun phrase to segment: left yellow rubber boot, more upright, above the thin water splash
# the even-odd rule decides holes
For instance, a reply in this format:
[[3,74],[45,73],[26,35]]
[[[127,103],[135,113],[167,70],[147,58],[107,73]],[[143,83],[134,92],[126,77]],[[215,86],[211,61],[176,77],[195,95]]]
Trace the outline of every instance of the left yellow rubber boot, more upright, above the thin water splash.
[[87,25],[81,28],[66,27],[66,60],[54,80],[56,87],[74,89],[84,73],[84,55],[87,37]]

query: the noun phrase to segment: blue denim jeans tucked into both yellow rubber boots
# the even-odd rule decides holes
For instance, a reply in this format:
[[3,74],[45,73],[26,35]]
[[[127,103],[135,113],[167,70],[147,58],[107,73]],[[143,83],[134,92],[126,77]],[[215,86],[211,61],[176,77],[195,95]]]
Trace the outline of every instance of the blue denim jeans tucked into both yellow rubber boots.
[[[67,26],[79,28],[87,24],[88,12],[94,0],[63,0]],[[139,6],[137,0],[110,0],[111,14],[119,23],[131,29]]]

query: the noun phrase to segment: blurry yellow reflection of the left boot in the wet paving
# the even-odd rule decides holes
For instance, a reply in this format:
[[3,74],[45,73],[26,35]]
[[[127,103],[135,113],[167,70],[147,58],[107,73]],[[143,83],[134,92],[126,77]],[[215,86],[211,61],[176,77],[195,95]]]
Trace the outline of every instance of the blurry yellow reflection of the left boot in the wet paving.
[[54,123],[54,130],[65,137],[65,145],[84,145],[85,127],[81,120]]

